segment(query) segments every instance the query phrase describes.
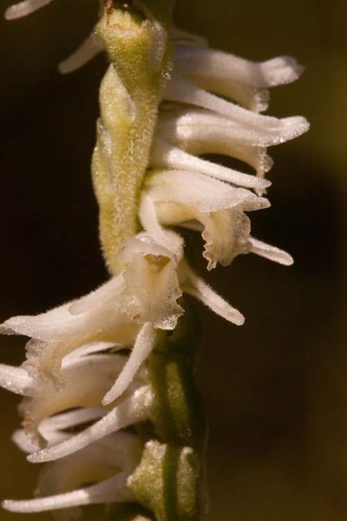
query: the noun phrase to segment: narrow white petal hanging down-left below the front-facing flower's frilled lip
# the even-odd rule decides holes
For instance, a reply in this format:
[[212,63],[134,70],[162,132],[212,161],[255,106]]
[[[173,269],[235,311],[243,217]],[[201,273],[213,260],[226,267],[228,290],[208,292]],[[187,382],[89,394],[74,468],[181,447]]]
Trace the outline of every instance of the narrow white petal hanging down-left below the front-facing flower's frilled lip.
[[119,374],[114,386],[112,386],[103,398],[103,405],[110,404],[126,390],[130,381],[133,380],[139,366],[151,353],[155,344],[155,339],[155,329],[150,322],[147,322],[137,335],[135,345],[124,369],[121,371],[121,374]]

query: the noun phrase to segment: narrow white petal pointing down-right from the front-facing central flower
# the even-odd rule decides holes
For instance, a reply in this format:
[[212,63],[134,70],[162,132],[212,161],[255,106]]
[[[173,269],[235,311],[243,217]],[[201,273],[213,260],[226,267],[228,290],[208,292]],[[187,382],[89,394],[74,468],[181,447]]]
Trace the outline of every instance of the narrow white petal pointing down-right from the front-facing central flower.
[[244,324],[244,315],[239,313],[237,309],[232,308],[228,302],[226,302],[222,297],[208,286],[200,277],[198,277],[185,263],[183,265],[183,279],[185,276],[188,277],[187,281],[183,281],[181,283],[181,287],[183,291],[196,297],[201,300],[203,304],[208,306],[214,313],[220,315],[221,317],[228,320],[228,322],[232,322],[233,324],[237,324],[237,326],[242,326]]

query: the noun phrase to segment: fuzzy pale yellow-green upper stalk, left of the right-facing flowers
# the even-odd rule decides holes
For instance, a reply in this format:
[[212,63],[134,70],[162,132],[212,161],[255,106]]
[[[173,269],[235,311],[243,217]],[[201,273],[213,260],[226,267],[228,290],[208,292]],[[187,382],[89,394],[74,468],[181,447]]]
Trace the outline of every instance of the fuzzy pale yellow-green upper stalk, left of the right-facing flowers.
[[115,2],[95,28],[111,60],[100,88],[92,176],[101,245],[112,274],[124,267],[119,242],[139,231],[139,188],[172,65],[170,15],[170,2],[134,2],[133,8]]

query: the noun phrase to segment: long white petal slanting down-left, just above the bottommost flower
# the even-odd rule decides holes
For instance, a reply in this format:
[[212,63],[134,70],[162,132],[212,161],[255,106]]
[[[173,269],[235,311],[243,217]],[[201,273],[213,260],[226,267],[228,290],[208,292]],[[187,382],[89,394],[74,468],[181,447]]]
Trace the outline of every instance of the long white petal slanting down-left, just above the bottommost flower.
[[42,463],[43,461],[62,458],[62,456],[67,456],[103,438],[103,436],[123,429],[130,424],[142,422],[148,417],[152,399],[151,390],[144,386],[135,391],[132,397],[125,399],[124,402],[113,408],[99,422],[59,445],[31,454],[28,456],[28,461]]

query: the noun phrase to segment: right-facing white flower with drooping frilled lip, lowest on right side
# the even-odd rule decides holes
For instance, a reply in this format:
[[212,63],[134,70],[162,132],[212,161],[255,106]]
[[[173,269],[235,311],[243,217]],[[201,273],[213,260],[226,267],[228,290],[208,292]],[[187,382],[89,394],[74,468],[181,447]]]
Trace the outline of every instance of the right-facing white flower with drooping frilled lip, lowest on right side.
[[[208,270],[217,262],[228,265],[235,256],[251,250],[251,224],[244,211],[270,206],[250,190],[182,170],[153,171],[146,177],[142,197],[153,201],[160,224],[184,226],[196,220],[203,225]],[[144,206],[140,217],[143,212]]]

